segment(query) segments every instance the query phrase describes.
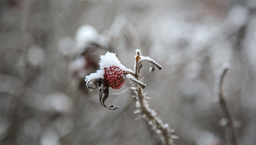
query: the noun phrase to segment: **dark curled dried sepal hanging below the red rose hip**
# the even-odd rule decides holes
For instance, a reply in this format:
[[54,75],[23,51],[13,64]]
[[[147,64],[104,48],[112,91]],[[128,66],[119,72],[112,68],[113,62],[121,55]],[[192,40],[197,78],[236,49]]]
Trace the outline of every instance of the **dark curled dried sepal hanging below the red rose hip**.
[[104,83],[100,85],[100,91],[99,91],[99,101],[101,106],[103,106],[104,108],[110,109],[110,110],[116,110],[118,107],[114,107],[113,105],[111,105],[110,107],[107,107],[105,105],[105,100],[108,97],[108,93],[109,93],[109,89],[108,86],[105,85]]

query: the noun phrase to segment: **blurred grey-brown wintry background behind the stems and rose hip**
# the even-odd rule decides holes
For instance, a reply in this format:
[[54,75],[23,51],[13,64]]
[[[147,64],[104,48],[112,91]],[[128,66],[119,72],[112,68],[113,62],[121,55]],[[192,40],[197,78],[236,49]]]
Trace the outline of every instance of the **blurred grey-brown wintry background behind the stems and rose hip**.
[[255,8],[254,0],[0,1],[0,144],[161,144],[133,114],[129,80],[110,90],[114,111],[85,87],[100,55],[115,52],[133,69],[138,48],[164,68],[144,65],[144,91],[176,144],[229,144],[216,95],[225,62],[239,143],[256,144]]

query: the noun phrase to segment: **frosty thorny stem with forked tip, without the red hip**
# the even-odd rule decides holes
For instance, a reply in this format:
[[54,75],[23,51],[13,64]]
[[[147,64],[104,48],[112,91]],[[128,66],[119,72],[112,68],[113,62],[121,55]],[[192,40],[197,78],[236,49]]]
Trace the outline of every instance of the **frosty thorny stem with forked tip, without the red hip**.
[[[136,52],[137,55],[135,57],[135,76],[127,76],[128,78],[131,77],[129,78],[131,81],[139,80],[139,70],[142,67],[143,62],[149,62],[151,65],[154,65],[159,70],[162,70],[162,66],[159,65],[157,62],[153,61],[149,57],[142,56],[140,50],[137,49]],[[161,139],[165,144],[173,144],[174,139],[178,138],[176,135],[172,134],[174,132],[174,129],[170,130],[169,125],[167,123],[162,123],[162,120],[160,117],[157,116],[156,111],[150,109],[148,101],[146,100],[146,96],[142,90],[143,85],[140,85],[140,83],[141,82],[136,82],[136,88],[132,88],[132,90],[136,94],[136,107],[138,108],[138,110],[136,110],[135,113],[140,113],[142,117],[145,118],[146,121],[148,121],[149,125],[152,127],[152,130],[155,130],[157,134],[161,135]]]

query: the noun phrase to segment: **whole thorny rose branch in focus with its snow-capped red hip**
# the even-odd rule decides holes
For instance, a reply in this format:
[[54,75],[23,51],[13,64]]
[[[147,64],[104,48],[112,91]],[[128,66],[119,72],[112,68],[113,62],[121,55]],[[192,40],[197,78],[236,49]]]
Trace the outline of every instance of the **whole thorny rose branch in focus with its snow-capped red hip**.
[[167,123],[162,123],[162,120],[157,116],[156,111],[149,108],[148,101],[146,100],[147,97],[142,90],[146,85],[139,80],[139,71],[142,68],[143,62],[150,63],[151,70],[154,70],[154,67],[158,70],[162,70],[162,66],[152,60],[152,58],[142,56],[140,50],[137,49],[136,52],[134,71],[124,67],[116,57],[116,54],[113,54],[112,52],[107,52],[105,55],[100,56],[100,69],[97,70],[96,73],[85,77],[86,87],[95,89],[99,86],[99,101],[101,106],[110,110],[115,110],[118,107],[114,107],[113,105],[107,107],[105,105],[105,100],[108,97],[109,88],[120,89],[121,85],[124,83],[123,77],[126,76],[135,85],[135,87],[131,88],[136,94],[136,107],[138,110],[136,110],[135,113],[141,113],[141,116],[148,121],[151,129],[161,135],[162,141],[165,144],[173,144],[174,139],[178,139],[178,136],[172,134],[174,129],[170,130]]

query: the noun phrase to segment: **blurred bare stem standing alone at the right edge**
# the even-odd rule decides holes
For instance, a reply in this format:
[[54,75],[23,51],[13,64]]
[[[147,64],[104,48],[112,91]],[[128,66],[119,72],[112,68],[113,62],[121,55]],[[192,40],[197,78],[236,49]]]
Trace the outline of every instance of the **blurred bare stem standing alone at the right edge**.
[[238,145],[238,139],[236,137],[235,129],[234,129],[234,120],[231,116],[230,111],[228,110],[227,102],[223,96],[223,81],[228,71],[228,64],[225,64],[223,70],[221,71],[221,75],[219,78],[219,103],[221,110],[223,111],[223,115],[228,119],[227,127],[231,131],[231,144]]

